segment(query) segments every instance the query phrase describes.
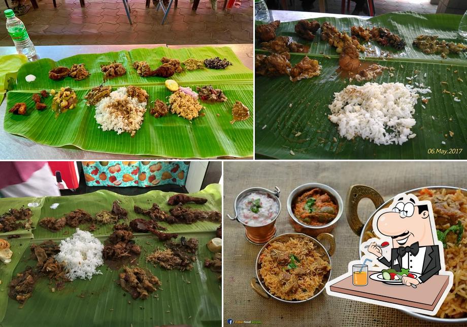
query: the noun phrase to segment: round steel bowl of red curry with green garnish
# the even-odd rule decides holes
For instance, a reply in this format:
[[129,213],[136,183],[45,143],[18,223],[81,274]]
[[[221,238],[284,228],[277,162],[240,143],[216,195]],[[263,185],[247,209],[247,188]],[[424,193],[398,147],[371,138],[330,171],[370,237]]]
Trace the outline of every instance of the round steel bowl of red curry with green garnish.
[[339,193],[319,183],[295,188],[287,199],[290,222],[297,233],[317,236],[330,233],[344,211]]

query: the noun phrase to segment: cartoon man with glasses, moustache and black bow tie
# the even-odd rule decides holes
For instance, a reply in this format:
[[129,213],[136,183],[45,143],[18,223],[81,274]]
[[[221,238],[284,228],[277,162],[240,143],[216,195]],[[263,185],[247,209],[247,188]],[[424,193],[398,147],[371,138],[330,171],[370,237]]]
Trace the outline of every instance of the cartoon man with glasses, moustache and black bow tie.
[[411,273],[419,274],[416,278],[403,276],[403,284],[418,285],[439,274],[443,252],[435,244],[439,242],[431,202],[419,201],[413,194],[399,194],[389,208],[377,213],[375,219],[375,234],[392,239],[391,258],[388,260],[383,256],[383,250],[376,242],[370,243],[368,252],[386,267],[396,271],[409,269]]

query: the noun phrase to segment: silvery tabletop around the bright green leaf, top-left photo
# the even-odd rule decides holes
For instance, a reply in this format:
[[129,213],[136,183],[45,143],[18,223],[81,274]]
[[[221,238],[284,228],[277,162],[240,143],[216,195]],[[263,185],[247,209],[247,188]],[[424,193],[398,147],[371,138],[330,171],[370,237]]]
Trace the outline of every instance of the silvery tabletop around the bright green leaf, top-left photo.
[[[213,45],[166,45],[166,44],[135,44],[135,45],[89,45],[89,46],[36,46],[37,58],[60,60],[76,54],[104,53],[110,51],[131,50],[138,48],[169,47],[174,49],[189,47],[229,47],[249,69],[253,69],[253,44],[213,44]],[[16,54],[15,47],[0,47],[0,56]],[[129,159],[155,158],[156,156],[134,156],[111,153],[98,153],[78,149],[74,146],[50,147],[36,143],[22,136],[12,135],[3,129],[7,100],[0,105],[0,158],[2,159]],[[232,158],[233,159],[233,158]],[[251,158],[244,158],[251,159]]]

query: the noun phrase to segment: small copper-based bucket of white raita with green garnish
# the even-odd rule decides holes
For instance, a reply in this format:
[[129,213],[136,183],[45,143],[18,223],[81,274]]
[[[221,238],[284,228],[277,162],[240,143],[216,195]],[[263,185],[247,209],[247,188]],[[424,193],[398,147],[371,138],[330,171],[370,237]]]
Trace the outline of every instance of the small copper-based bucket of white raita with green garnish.
[[276,219],[281,212],[279,188],[274,191],[254,187],[241,192],[233,203],[235,216],[245,226],[245,236],[254,244],[264,244],[276,236]]

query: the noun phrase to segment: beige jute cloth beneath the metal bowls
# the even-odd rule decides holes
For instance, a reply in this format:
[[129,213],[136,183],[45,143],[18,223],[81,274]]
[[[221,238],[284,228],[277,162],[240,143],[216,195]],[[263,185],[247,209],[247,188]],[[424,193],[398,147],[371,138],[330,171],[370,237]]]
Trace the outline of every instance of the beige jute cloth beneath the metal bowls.
[[[344,203],[351,185],[375,188],[387,200],[397,193],[424,186],[467,187],[467,163],[456,162],[224,162],[224,324],[227,319],[260,320],[263,326],[442,326],[381,306],[328,296],[286,304],[263,299],[250,287],[260,245],[245,239],[243,225],[233,215],[233,201],[250,187],[281,189],[282,211],[277,219],[278,235],[293,232],[288,221],[287,196],[305,183],[322,183],[335,189]],[[361,201],[360,219],[366,221],[375,207]],[[345,212],[345,211],[344,211]],[[331,257],[331,278],[347,270],[358,259],[359,237],[350,229],[345,213],[332,232],[336,253]],[[452,326],[452,325],[451,325]]]

